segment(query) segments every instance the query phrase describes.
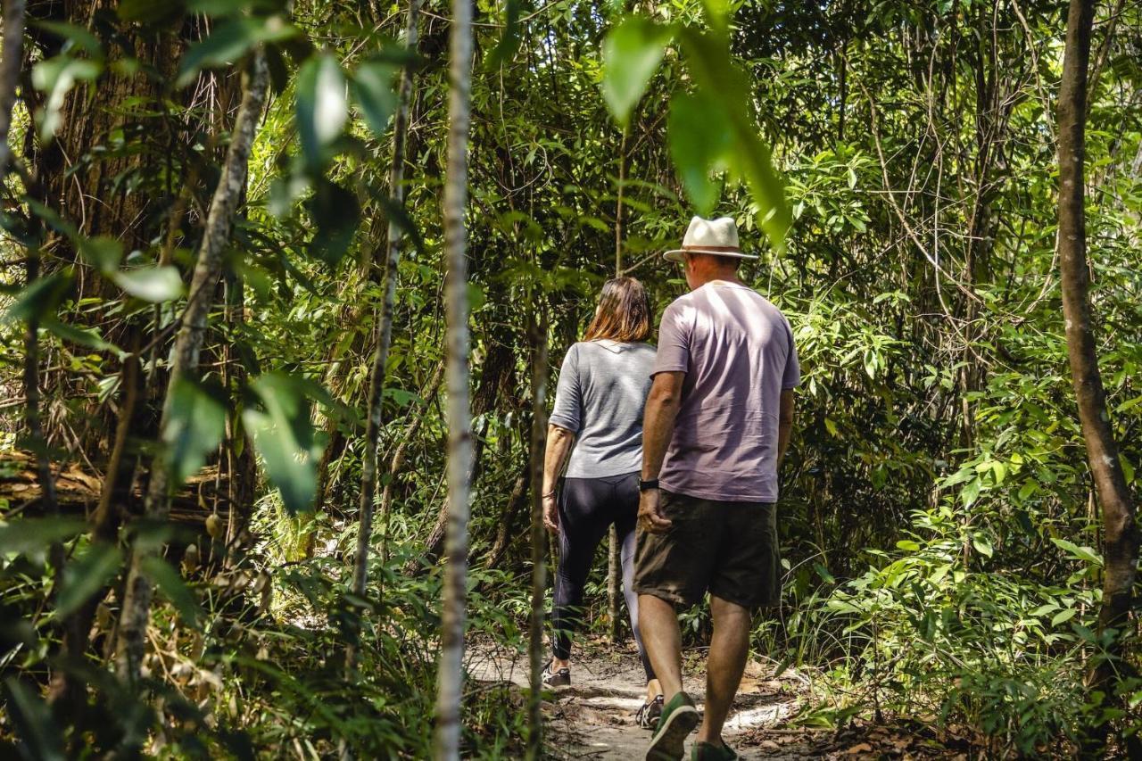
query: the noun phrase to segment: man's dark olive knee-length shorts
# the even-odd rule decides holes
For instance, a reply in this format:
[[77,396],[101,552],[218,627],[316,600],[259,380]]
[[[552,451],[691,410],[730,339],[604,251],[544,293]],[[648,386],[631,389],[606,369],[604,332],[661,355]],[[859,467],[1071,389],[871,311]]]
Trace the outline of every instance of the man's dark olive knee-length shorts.
[[690,607],[708,591],[743,608],[781,599],[777,506],[661,491],[662,534],[638,527],[634,590]]

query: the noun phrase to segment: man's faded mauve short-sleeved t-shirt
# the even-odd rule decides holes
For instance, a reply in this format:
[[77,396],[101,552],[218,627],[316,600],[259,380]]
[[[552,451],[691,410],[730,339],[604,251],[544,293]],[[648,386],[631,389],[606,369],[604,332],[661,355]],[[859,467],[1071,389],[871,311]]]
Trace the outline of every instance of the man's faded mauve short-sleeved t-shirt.
[[789,322],[746,286],[706,283],[662,313],[654,373],[686,374],[659,480],[702,499],[777,502],[783,390],[801,382]]

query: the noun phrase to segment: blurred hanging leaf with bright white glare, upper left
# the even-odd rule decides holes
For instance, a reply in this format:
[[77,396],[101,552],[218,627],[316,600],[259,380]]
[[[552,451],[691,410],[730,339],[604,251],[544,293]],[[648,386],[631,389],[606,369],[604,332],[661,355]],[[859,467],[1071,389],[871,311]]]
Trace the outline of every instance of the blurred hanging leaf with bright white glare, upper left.
[[347,117],[345,75],[337,61],[329,54],[307,61],[297,74],[297,133],[311,171],[324,166],[327,149],[340,137]]

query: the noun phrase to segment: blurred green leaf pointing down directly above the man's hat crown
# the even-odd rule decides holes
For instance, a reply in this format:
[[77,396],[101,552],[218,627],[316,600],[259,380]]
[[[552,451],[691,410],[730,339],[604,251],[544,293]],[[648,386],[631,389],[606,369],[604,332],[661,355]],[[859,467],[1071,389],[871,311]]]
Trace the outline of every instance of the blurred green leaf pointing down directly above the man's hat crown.
[[725,111],[715,98],[679,93],[670,101],[667,133],[686,194],[699,214],[709,214],[722,190],[710,174],[724,168],[732,145]]

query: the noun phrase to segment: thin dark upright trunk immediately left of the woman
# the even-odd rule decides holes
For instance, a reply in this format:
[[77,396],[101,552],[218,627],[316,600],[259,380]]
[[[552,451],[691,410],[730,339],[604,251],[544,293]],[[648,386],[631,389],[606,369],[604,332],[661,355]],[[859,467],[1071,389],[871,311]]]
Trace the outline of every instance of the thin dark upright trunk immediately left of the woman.
[[531,334],[531,620],[528,656],[531,691],[528,694],[529,761],[542,756],[544,718],[540,712],[544,687],[544,592],[547,588],[547,531],[544,529],[544,451],[547,441],[547,321],[532,320]]

